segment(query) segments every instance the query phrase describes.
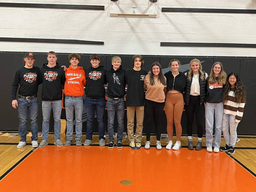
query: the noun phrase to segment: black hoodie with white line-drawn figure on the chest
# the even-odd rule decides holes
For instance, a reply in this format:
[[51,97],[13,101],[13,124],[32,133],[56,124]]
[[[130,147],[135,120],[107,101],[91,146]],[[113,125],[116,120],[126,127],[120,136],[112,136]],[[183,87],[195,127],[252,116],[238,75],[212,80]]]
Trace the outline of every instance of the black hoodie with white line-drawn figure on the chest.
[[122,65],[116,71],[111,66],[106,72],[106,78],[108,82],[107,95],[109,98],[124,98],[125,94],[125,82],[124,82],[125,69]]

